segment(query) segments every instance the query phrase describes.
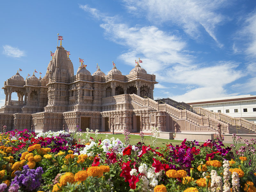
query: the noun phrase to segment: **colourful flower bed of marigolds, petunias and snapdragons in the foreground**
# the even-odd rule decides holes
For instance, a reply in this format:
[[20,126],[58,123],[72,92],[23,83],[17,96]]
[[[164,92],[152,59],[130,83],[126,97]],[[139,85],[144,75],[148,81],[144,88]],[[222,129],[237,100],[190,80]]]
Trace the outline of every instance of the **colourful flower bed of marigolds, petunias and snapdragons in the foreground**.
[[0,192],[256,191],[255,140],[225,147],[184,140],[163,148],[78,133],[28,130],[0,135]]

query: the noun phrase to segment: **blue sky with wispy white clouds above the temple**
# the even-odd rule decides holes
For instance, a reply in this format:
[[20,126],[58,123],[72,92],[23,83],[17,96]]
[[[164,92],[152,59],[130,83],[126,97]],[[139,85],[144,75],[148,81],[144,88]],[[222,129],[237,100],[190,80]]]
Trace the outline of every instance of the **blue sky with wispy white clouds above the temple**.
[[80,57],[126,75],[140,57],[155,99],[256,94],[255,0],[3,1],[0,17],[2,86],[19,68],[43,77],[59,33],[74,71]]

